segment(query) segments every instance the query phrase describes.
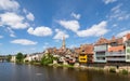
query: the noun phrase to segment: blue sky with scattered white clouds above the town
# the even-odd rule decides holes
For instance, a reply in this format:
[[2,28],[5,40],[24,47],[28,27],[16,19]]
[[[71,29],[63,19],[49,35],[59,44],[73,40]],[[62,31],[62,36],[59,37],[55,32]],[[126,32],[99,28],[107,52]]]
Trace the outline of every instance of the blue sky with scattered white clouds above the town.
[[0,55],[94,43],[130,32],[130,0],[0,0]]

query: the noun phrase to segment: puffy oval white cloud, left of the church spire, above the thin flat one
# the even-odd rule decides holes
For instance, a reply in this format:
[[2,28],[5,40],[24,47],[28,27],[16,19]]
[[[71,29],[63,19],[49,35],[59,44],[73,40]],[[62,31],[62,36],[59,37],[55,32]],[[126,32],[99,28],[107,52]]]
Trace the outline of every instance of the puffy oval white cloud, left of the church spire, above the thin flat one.
[[38,37],[44,37],[44,36],[52,35],[51,28],[44,27],[44,26],[37,27],[36,29],[34,29],[32,27],[28,28],[27,32],[34,36],[38,36]]

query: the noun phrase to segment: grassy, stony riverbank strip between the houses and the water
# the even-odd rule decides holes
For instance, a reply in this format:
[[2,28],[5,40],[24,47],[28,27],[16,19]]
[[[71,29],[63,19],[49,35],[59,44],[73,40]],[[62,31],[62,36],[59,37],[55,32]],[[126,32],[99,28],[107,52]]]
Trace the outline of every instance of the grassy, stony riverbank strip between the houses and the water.
[[66,68],[75,68],[75,69],[87,69],[87,70],[95,70],[95,71],[104,71],[109,73],[119,73],[119,75],[130,75],[130,66],[87,66],[87,65],[69,65],[69,64],[48,64],[48,65],[41,65],[40,63],[26,63],[27,65],[35,65],[35,66],[51,66],[51,67],[66,67]]

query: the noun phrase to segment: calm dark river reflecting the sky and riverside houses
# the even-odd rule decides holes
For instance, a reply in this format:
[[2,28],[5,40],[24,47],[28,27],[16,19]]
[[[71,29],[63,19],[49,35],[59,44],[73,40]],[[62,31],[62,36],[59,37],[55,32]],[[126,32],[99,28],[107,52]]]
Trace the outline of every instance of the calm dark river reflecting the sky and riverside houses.
[[0,81],[130,81],[130,76],[0,63]]

